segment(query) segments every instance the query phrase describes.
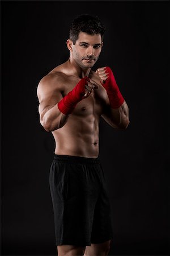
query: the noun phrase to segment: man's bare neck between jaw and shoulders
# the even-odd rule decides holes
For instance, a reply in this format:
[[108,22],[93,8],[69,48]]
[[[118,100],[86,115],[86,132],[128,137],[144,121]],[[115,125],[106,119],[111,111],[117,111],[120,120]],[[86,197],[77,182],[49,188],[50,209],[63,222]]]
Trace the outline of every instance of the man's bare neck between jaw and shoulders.
[[68,60],[68,64],[71,66],[71,74],[81,79],[85,76],[88,76],[91,71],[91,68],[80,67],[77,63],[75,63],[74,59],[71,56]]

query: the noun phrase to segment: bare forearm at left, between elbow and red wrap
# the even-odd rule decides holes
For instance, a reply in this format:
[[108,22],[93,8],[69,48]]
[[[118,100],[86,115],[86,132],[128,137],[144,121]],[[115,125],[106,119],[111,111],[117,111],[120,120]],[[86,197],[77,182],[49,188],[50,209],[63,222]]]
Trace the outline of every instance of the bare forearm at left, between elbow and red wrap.
[[58,109],[58,104],[50,106],[45,112],[40,115],[41,125],[46,131],[54,131],[65,125],[69,115],[61,113]]

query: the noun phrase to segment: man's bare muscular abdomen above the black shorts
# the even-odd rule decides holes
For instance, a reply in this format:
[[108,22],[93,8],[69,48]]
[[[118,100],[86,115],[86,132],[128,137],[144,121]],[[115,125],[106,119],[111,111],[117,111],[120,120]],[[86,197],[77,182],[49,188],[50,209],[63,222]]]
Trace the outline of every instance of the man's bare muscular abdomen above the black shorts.
[[52,132],[56,142],[56,155],[97,158],[99,155],[99,117],[93,114],[70,115],[66,124]]

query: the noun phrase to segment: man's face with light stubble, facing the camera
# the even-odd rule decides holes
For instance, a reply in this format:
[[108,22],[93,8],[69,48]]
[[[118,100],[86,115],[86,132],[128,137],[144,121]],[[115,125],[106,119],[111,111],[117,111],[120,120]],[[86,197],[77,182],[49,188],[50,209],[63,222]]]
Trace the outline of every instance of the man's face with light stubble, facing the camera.
[[75,44],[72,45],[73,59],[81,68],[91,68],[99,59],[102,46],[100,34],[88,35],[80,32]]

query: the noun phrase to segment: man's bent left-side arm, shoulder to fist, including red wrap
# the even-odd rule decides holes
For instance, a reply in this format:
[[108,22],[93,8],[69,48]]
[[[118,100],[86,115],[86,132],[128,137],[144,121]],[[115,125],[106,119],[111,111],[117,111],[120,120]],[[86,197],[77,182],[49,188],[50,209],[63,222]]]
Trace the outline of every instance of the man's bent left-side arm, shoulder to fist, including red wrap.
[[[56,82],[58,86],[56,86]],[[61,77],[56,79],[56,76],[54,81],[52,79],[49,81],[47,76],[41,80],[38,86],[40,122],[46,131],[54,131],[65,125],[68,115],[73,112],[76,104],[90,96],[92,91],[98,88],[95,81],[84,77],[80,79],[73,90],[62,98],[63,88],[59,85],[62,86],[63,82]]]

